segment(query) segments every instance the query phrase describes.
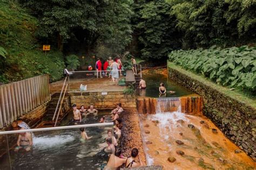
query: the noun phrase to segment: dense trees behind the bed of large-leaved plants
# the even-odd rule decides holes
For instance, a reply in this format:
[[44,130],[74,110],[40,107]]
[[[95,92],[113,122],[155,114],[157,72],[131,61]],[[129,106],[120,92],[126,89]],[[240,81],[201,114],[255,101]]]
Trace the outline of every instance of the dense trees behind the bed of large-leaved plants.
[[255,45],[256,1],[136,1],[132,20],[144,59],[174,49]]

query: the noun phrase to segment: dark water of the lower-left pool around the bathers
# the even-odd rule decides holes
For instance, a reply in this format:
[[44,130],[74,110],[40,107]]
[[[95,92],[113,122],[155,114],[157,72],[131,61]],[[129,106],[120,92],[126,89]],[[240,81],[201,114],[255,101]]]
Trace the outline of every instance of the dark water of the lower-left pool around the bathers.
[[[107,112],[100,112],[106,115]],[[71,125],[72,111],[62,122]],[[98,123],[99,118],[83,118],[83,124]],[[10,151],[12,169],[97,169],[104,167],[108,155],[104,152],[107,130],[113,126],[86,128],[85,142],[80,140],[79,129],[35,132],[31,152]],[[18,137],[17,134],[13,134]],[[0,166],[0,169],[3,167]]]

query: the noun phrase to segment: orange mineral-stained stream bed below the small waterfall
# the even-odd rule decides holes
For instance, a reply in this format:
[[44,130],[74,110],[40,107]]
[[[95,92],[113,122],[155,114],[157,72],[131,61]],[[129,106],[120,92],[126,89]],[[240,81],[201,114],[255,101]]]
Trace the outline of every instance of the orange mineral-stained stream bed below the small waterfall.
[[[164,169],[256,169],[255,162],[204,116],[178,111],[140,114],[140,124],[149,165],[162,165]],[[194,127],[191,129],[188,124]],[[177,144],[176,140],[184,144]],[[176,151],[183,151],[184,155]],[[168,161],[169,157],[176,161]]]

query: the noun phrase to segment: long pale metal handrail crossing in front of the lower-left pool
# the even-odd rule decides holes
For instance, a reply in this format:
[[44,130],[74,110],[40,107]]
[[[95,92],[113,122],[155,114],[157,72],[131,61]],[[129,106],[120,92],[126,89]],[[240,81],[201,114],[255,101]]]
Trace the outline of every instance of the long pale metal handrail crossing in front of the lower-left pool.
[[2,134],[24,133],[24,132],[40,132],[40,131],[75,129],[75,128],[89,128],[89,127],[94,127],[94,126],[107,126],[107,125],[113,125],[113,124],[114,124],[113,122],[109,122],[109,123],[93,123],[93,124],[72,125],[72,126],[57,126],[57,127],[51,127],[51,128],[1,131],[0,135],[2,135]]

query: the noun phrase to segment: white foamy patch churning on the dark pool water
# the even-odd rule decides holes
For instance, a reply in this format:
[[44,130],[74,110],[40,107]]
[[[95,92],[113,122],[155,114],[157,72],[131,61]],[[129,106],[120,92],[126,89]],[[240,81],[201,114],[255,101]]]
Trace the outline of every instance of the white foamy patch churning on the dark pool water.
[[73,140],[75,140],[75,137],[71,135],[56,135],[54,137],[35,137],[33,138],[33,146],[44,149],[48,147],[61,146]]

